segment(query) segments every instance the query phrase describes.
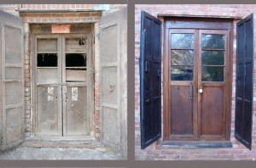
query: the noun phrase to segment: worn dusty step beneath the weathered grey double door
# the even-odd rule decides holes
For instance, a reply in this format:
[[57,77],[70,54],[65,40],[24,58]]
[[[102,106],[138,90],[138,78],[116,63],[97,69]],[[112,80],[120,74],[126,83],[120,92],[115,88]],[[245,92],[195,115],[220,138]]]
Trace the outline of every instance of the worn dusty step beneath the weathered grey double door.
[[32,148],[103,148],[106,145],[97,142],[95,137],[30,137],[21,146]]

